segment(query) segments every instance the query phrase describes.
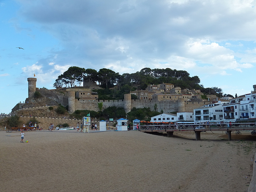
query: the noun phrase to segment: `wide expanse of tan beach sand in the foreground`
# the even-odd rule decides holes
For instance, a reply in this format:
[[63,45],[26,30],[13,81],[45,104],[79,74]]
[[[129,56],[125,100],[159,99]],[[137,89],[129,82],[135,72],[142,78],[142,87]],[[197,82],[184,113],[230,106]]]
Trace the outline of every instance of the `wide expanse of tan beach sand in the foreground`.
[[[242,135],[250,136],[250,132]],[[245,192],[255,140],[222,132],[0,132],[0,191]],[[238,136],[239,137],[239,136]]]

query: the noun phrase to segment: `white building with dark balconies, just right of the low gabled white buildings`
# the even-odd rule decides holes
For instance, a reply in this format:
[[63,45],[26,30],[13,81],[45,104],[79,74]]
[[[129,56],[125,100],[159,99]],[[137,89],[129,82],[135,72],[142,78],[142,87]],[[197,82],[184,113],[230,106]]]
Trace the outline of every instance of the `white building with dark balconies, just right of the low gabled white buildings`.
[[194,121],[196,123],[201,122],[220,122],[223,120],[223,104],[229,102],[218,101],[217,103],[211,103],[194,109]]

